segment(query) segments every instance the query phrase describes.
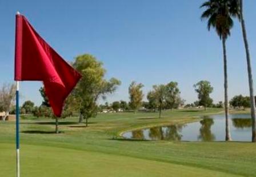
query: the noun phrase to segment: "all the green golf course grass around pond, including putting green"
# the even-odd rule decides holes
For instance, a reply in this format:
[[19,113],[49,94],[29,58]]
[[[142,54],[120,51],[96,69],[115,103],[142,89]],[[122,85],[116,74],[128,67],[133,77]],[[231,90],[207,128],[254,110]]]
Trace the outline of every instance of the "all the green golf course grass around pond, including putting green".
[[[122,131],[195,121],[222,110],[99,114],[89,127],[21,120],[21,176],[256,176],[256,144],[123,140]],[[0,122],[0,176],[15,176],[15,122]]]

